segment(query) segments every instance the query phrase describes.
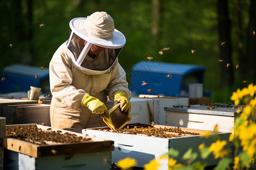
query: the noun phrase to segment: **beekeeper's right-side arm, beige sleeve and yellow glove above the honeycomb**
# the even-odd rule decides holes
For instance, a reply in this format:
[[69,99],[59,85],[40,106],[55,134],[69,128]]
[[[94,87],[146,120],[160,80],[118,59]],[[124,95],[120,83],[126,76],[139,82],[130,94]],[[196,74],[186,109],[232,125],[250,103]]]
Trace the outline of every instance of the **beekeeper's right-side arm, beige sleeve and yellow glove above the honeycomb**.
[[131,91],[126,82],[125,70],[119,65],[118,59],[112,67],[112,77],[108,85],[108,90],[109,99],[114,101],[114,103],[121,103],[121,110],[129,113],[131,110]]

